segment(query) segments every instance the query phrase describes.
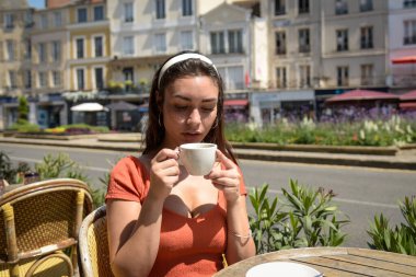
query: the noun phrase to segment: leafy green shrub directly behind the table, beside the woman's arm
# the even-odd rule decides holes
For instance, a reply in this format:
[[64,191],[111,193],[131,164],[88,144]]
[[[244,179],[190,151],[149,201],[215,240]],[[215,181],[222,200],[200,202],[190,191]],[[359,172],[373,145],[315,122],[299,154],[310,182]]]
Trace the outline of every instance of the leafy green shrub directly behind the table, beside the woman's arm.
[[267,184],[250,193],[254,215],[249,218],[256,252],[340,245],[346,236],[340,228],[349,220],[337,219],[333,192],[313,191],[292,180],[290,188],[282,188],[282,200],[267,198]]

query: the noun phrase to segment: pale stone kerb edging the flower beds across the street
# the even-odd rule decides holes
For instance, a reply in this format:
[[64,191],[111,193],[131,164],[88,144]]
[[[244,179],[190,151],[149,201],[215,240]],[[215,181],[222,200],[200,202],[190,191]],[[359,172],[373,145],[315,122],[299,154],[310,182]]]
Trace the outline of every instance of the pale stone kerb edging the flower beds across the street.
[[[14,138],[0,137],[1,143],[23,143],[38,146],[56,146],[56,147],[74,147],[88,149],[105,149],[113,151],[135,152],[140,151],[141,142],[137,134],[114,134],[100,136],[79,136],[72,139],[45,139],[45,138]],[[368,166],[379,169],[397,169],[416,171],[416,150],[408,149],[402,151],[379,151],[373,154],[346,153],[343,148],[338,148],[338,152],[312,151],[311,149],[302,151],[274,150],[270,147],[257,146],[250,149],[247,145],[234,143],[234,152],[239,159],[262,160],[276,162],[296,162],[310,164],[331,164],[331,165],[348,165],[348,166]],[[276,148],[278,149],[278,148]],[[290,149],[290,148],[289,148]],[[317,148],[316,148],[317,149]],[[371,150],[371,149],[370,149]],[[372,150],[371,150],[372,151]],[[369,151],[362,151],[369,152]],[[371,152],[370,152],[371,153]]]

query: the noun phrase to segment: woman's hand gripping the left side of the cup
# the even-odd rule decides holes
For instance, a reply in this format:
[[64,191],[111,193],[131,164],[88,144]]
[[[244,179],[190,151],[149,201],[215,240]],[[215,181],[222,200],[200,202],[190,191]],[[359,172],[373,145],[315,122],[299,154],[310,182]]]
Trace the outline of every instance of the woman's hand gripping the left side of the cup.
[[181,170],[177,160],[176,150],[164,148],[150,161],[150,197],[164,200],[171,194],[172,187],[180,180]]

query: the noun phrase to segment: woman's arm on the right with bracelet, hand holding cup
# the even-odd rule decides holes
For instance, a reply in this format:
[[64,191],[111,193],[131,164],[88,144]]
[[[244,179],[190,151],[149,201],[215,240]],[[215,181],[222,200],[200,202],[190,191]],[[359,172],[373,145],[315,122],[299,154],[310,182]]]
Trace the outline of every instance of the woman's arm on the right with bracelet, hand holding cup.
[[221,151],[217,151],[218,160],[226,166],[224,170],[212,170],[208,178],[223,191],[227,200],[227,263],[234,264],[241,259],[255,255],[255,245],[250,235],[249,216],[245,196],[240,194],[242,175],[238,166]]

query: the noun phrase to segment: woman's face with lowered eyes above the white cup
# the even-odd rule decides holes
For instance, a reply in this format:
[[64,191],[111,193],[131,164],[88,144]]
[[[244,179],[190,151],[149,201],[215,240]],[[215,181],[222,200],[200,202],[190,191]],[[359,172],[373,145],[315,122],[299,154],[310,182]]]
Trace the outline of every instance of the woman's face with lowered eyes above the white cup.
[[218,94],[218,86],[206,76],[184,77],[169,85],[162,103],[163,147],[200,142],[216,122]]

